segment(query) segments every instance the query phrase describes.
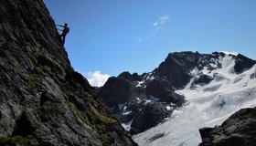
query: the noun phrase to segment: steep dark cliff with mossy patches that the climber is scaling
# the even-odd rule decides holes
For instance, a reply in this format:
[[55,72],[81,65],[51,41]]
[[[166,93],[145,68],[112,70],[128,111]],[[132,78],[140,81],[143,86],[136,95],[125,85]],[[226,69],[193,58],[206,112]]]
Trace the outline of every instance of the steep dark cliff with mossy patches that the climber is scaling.
[[70,67],[43,1],[0,4],[0,145],[136,145]]

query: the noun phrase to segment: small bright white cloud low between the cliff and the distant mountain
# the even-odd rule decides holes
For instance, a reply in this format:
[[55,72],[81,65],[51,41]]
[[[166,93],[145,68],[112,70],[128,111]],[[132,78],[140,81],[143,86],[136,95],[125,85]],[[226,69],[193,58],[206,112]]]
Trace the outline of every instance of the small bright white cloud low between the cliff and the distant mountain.
[[89,72],[84,74],[84,76],[88,79],[89,83],[93,87],[101,87],[105,84],[105,82],[110,78],[110,75],[101,74],[101,71],[97,70],[94,72]]

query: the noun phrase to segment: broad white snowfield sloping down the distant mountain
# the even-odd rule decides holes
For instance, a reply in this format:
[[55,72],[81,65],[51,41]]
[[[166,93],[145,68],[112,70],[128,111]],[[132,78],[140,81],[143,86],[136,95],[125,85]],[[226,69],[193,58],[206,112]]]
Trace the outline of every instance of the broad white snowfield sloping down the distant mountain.
[[[217,63],[221,68],[216,68]],[[169,120],[133,136],[140,146],[197,146],[201,142],[199,129],[214,127],[242,108],[256,105],[256,65],[241,74],[234,72],[235,62],[226,55],[219,57],[213,70],[194,68],[190,82],[176,93],[184,95],[187,103],[174,110]],[[195,84],[200,75],[213,78],[208,84]]]

